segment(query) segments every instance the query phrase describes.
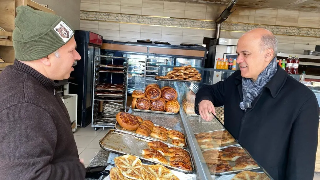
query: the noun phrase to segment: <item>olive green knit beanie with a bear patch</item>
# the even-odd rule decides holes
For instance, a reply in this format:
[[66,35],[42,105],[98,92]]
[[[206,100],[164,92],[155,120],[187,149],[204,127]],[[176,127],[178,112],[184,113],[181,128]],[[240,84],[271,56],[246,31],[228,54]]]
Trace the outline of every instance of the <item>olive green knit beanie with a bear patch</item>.
[[37,11],[29,6],[16,8],[12,33],[15,58],[21,61],[41,59],[66,44],[74,29],[62,17]]

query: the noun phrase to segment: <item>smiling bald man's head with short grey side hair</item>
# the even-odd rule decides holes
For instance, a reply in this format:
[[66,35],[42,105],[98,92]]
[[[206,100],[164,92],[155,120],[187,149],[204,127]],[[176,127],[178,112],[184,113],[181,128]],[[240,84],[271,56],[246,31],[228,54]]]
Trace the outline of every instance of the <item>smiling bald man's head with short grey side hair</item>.
[[272,32],[257,28],[239,38],[236,53],[241,75],[256,80],[277,54],[278,41]]

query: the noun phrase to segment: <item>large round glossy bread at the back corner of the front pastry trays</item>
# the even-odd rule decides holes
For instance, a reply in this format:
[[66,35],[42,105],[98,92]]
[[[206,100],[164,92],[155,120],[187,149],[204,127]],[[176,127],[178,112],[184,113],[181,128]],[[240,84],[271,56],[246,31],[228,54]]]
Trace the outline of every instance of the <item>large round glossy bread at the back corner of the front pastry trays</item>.
[[138,129],[140,124],[136,116],[126,112],[117,113],[116,120],[121,127],[132,131]]

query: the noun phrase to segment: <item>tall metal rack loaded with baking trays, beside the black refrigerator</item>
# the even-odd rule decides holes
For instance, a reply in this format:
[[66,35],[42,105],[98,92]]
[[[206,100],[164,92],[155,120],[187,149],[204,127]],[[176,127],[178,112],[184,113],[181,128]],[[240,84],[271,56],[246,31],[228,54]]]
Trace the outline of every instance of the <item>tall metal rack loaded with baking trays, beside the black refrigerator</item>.
[[[114,62],[117,59],[124,59],[124,67],[115,66]],[[128,59],[124,57],[115,57],[115,56],[105,56],[105,55],[95,55],[94,57],[94,78],[93,78],[93,101],[92,101],[92,124],[91,126],[94,127],[94,130],[98,130],[100,127],[107,128],[107,127],[115,127],[116,124],[116,113],[120,111],[118,108],[113,108],[112,103],[117,103],[120,105],[121,111],[126,111],[126,104],[127,104],[127,90],[128,90]],[[107,60],[111,62],[109,65],[101,64],[101,60]],[[111,65],[111,66],[110,66]],[[119,72],[112,71],[112,70],[119,70],[123,69],[124,74],[123,90],[116,90],[116,89],[101,89],[96,88],[96,86],[100,83],[101,73],[108,73],[110,74],[110,84],[113,83],[113,74],[119,74]],[[101,71],[104,70],[104,71]],[[107,70],[107,71],[106,71]],[[109,70],[109,71],[108,71]],[[96,94],[97,90],[101,91],[115,91],[115,94]],[[123,91],[124,94],[117,94],[117,92]],[[111,106],[110,106],[111,105]],[[108,113],[109,112],[109,113]]]

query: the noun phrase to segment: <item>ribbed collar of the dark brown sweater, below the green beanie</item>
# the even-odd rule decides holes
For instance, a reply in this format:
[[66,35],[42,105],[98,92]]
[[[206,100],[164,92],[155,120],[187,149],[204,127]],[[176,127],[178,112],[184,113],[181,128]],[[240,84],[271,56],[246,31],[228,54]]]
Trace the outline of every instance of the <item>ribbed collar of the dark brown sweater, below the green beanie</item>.
[[17,71],[20,71],[22,73],[28,74],[35,78],[38,82],[42,84],[42,86],[47,90],[54,90],[56,87],[58,87],[58,83],[52,81],[51,79],[45,77],[43,74],[39,73],[32,67],[21,63],[17,59],[14,60],[13,68]]

